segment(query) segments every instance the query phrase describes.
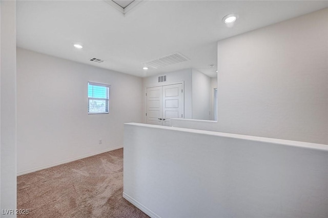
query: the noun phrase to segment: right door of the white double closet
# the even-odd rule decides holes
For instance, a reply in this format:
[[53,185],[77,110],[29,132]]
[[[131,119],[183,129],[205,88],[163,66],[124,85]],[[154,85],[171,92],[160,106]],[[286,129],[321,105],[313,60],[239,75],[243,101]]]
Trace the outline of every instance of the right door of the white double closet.
[[171,118],[183,118],[182,84],[162,86],[162,122],[171,126]]

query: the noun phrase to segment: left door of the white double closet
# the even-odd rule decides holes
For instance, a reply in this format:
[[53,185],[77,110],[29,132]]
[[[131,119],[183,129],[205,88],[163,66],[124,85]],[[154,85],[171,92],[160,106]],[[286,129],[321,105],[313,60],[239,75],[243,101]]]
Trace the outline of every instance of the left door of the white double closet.
[[146,123],[162,125],[162,87],[147,88]]

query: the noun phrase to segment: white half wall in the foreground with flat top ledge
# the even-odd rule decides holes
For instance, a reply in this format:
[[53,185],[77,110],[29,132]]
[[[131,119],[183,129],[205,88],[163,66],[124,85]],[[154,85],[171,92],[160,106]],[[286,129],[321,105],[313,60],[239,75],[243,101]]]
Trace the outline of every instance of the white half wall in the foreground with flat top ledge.
[[123,196],[151,217],[328,217],[326,145],[147,124],[124,145]]

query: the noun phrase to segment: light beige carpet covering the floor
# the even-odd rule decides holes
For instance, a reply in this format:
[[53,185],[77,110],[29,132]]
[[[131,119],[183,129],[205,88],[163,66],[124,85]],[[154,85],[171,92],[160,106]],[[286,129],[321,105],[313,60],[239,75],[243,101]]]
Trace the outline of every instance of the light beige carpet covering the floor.
[[123,149],[17,177],[18,218],[149,217],[122,198]]

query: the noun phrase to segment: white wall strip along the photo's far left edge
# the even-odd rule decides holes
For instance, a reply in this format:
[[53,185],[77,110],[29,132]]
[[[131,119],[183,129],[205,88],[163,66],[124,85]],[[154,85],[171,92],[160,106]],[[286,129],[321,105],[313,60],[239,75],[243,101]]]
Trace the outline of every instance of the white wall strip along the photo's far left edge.
[[16,209],[16,3],[0,2],[1,217]]

